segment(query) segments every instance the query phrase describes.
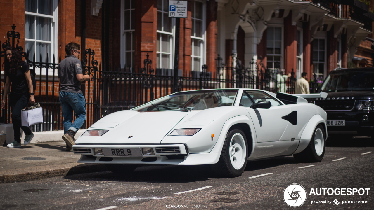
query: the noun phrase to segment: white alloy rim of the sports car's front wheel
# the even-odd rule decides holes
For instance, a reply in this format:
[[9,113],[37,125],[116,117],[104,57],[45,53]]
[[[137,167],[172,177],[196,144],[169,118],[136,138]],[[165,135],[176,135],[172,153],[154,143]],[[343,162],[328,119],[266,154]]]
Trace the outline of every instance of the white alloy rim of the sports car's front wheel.
[[235,133],[230,140],[229,147],[230,162],[234,169],[243,167],[246,159],[245,140],[240,133]]

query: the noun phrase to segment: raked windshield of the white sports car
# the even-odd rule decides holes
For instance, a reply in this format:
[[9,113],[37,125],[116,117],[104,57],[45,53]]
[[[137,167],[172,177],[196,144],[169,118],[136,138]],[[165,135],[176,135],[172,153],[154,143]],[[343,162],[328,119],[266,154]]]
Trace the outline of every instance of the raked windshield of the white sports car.
[[196,90],[179,92],[134,108],[134,111],[189,111],[232,106],[238,90]]

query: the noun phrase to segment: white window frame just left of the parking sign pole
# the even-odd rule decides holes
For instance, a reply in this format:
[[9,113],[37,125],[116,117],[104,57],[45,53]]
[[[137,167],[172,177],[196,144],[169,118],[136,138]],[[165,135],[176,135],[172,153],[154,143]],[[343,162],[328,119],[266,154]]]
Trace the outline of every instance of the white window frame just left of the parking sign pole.
[[[159,0],[160,1],[160,0]],[[163,0],[161,0],[162,1],[162,4],[164,3],[164,1]],[[169,1],[167,1],[167,3],[168,3],[168,7],[169,7]],[[157,5],[156,5],[157,6]],[[163,5],[164,6],[164,5]],[[163,6],[162,6],[162,8],[163,8]],[[164,31],[164,21],[163,21],[163,18],[164,18],[164,16],[165,16],[165,14],[168,14],[169,15],[169,11],[162,11],[162,10],[159,10],[158,8],[157,8],[157,17],[158,17],[158,13],[159,12],[162,12],[163,13],[163,15],[161,16],[162,17],[162,21],[161,21],[161,23],[162,23],[162,30],[160,31],[160,30],[157,30],[156,32],[157,32],[157,41],[159,41],[159,44],[160,44],[160,49],[161,49],[161,51],[159,51],[159,49],[156,49],[157,51],[156,51],[156,53],[157,53],[157,56],[158,56],[158,58],[157,58],[157,68],[163,68],[162,67],[162,55],[169,55],[169,64],[168,64],[168,69],[174,69],[173,68],[173,64],[174,64],[174,46],[175,46],[175,39],[174,39],[174,36],[175,36],[175,19],[176,18],[170,18],[171,20],[170,20],[170,24],[171,24],[171,32],[167,32],[167,31]],[[179,20],[179,19],[178,19]],[[158,20],[157,20],[157,24],[158,24]],[[158,28],[158,26],[157,26],[157,28]],[[162,39],[161,39],[161,37],[162,37],[162,34],[166,34],[166,35],[170,35],[169,36],[169,52],[166,52],[166,51],[163,51],[163,49],[162,49]]]

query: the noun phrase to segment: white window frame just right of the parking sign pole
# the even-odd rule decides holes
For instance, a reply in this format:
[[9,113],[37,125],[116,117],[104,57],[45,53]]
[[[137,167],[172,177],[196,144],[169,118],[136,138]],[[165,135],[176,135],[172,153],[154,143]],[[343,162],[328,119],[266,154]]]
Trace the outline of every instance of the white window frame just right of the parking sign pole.
[[[199,0],[193,0],[191,3],[193,3],[191,6],[196,6],[196,2],[201,2],[203,4],[203,8],[202,8],[202,17],[203,19],[197,19],[197,18],[194,18],[194,17],[191,17],[191,21],[196,21],[196,20],[199,20],[199,21],[202,21],[202,37],[196,37],[194,36],[195,34],[191,34],[191,71],[202,71],[202,65],[203,64],[206,64],[206,41],[205,41],[205,37],[206,37],[206,2],[205,1],[199,1]],[[194,10],[196,11],[196,10]],[[194,25],[196,27],[196,24],[191,24],[191,25]],[[193,30],[196,32],[196,30]],[[194,55],[194,41],[195,40],[200,40],[201,43],[200,43],[200,56],[197,56],[197,55]],[[196,70],[194,69],[194,65],[193,65],[193,59],[194,58],[199,58],[200,59],[200,68],[199,70]]]

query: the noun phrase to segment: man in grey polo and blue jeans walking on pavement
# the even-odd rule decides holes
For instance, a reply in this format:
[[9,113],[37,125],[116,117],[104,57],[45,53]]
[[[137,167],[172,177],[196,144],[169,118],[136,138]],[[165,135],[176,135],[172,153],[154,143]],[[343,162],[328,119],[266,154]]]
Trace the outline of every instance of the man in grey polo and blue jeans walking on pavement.
[[[59,100],[64,117],[64,135],[66,151],[71,151],[74,145],[74,135],[86,120],[86,100],[80,90],[81,82],[90,80],[89,75],[83,75],[82,64],[78,57],[80,44],[70,42],[65,46],[66,56],[58,64],[58,81],[60,84]],[[76,119],[73,122],[73,111]]]

